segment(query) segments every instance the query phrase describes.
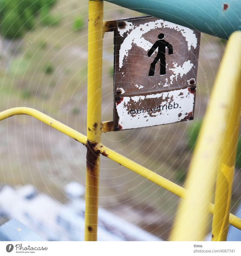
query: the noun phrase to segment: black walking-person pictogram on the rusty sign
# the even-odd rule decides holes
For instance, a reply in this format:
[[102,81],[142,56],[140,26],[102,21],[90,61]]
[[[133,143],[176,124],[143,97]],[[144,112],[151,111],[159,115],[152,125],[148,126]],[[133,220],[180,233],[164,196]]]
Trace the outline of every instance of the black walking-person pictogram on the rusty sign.
[[148,51],[148,57],[151,57],[153,52],[158,48],[157,55],[154,59],[154,61],[151,63],[150,71],[149,71],[149,77],[155,75],[155,66],[160,60],[160,75],[166,74],[166,47],[168,48],[168,54],[173,54],[173,47],[170,43],[166,42],[163,38],[165,35],[163,33],[158,35],[159,40],[157,40],[152,48]]

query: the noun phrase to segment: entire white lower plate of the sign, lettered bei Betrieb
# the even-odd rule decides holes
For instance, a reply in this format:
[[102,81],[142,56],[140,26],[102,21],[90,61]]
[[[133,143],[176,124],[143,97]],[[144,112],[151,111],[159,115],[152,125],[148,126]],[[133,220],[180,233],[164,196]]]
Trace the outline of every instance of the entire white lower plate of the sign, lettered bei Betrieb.
[[115,102],[118,130],[169,124],[193,119],[195,90],[120,97]]

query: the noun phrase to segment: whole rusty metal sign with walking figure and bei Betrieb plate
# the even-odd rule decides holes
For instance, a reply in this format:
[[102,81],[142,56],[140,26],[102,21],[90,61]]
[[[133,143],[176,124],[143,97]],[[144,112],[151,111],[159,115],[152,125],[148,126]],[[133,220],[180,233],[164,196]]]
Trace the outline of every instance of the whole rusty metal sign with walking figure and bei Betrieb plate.
[[117,20],[114,131],[193,119],[200,32],[154,17]]

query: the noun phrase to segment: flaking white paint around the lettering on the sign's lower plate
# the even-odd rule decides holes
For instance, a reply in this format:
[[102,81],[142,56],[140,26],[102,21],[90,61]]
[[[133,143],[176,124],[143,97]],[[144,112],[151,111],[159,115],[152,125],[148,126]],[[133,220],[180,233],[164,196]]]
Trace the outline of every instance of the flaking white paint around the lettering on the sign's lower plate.
[[[183,100],[185,97],[185,101]],[[178,104],[175,109],[167,109],[161,111],[141,112],[140,114],[130,115],[130,101],[135,103],[136,109],[142,109],[143,100],[155,99],[157,106],[169,105],[172,103]],[[153,107],[153,106],[152,106]],[[153,125],[162,125],[168,123],[179,122],[184,119],[188,113],[193,111],[194,107],[194,94],[190,93],[188,88],[173,90],[169,92],[149,94],[146,96],[133,96],[123,97],[123,100],[116,103],[116,109],[119,116],[118,124],[122,126],[122,129],[131,129],[139,127],[147,127]],[[146,106],[145,106],[146,108]]]

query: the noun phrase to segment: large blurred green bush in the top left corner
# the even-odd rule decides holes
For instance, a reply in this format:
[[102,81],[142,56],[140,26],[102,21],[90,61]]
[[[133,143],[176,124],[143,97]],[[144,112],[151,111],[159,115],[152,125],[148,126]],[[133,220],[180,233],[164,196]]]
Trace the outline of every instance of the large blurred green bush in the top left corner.
[[[50,25],[59,21],[49,15],[49,10],[56,0],[1,0],[0,1],[0,33],[6,38],[18,38],[37,23],[36,16],[40,12],[42,24]],[[49,22],[50,21],[50,22]]]

